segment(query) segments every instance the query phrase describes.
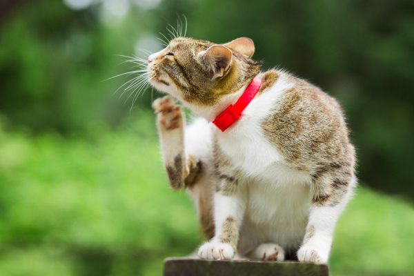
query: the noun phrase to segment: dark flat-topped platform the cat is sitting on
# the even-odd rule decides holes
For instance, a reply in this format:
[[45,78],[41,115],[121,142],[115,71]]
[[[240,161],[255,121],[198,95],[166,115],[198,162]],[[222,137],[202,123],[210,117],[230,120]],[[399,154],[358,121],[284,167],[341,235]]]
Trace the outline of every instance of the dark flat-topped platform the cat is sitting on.
[[299,262],[206,261],[167,258],[164,276],[328,276],[328,266]]

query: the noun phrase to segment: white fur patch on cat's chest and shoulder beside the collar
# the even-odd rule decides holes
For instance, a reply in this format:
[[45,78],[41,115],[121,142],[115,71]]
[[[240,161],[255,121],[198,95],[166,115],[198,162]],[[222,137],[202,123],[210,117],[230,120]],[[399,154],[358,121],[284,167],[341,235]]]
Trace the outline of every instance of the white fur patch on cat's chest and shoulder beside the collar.
[[279,97],[291,87],[281,77],[270,90],[249,103],[233,126],[225,132],[216,129],[220,150],[237,170],[250,176],[265,176],[266,172],[283,170],[288,165],[277,146],[266,139],[262,125],[278,108]]

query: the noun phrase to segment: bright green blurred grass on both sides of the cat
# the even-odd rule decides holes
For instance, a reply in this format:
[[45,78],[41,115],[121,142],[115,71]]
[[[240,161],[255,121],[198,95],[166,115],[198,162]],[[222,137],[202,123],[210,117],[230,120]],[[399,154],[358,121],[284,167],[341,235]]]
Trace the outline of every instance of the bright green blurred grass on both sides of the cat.
[[[153,118],[87,137],[0,127],[0,275],[161,275],[201,243],[188,196],[168,186]],[[414,271],[414,210],[358,188],[337,226],[333,275]]]

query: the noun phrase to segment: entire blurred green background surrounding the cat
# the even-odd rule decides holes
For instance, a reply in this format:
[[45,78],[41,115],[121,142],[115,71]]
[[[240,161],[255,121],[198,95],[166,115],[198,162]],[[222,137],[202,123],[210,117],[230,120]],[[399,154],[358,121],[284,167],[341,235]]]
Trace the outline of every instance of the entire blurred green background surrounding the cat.
[[[0,1],[0,275],[161,275],[202,241],[161,166],[147,90],[114,95],[119,55],[188,36],[255,41],[342,103],[360,186],[335,232],[333,275],[414,275],[414,2]],[[181,17],[182,18],[182,17]],[[130,78],[129,78],[130,79]],[[126,101],[126,103],[125,103]]]

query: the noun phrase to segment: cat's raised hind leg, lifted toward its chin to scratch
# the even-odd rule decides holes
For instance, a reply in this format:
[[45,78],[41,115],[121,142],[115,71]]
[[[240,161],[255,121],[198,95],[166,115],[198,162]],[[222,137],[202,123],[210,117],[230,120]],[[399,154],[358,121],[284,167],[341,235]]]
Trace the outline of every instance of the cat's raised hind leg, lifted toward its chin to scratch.
[[172,188],[184,188],[195,181],[201,163],[187,156],[184,147],[185,117],[181,106],[172,97],[156,99],[152,107],[157,113],[161,151],[168,179]]

